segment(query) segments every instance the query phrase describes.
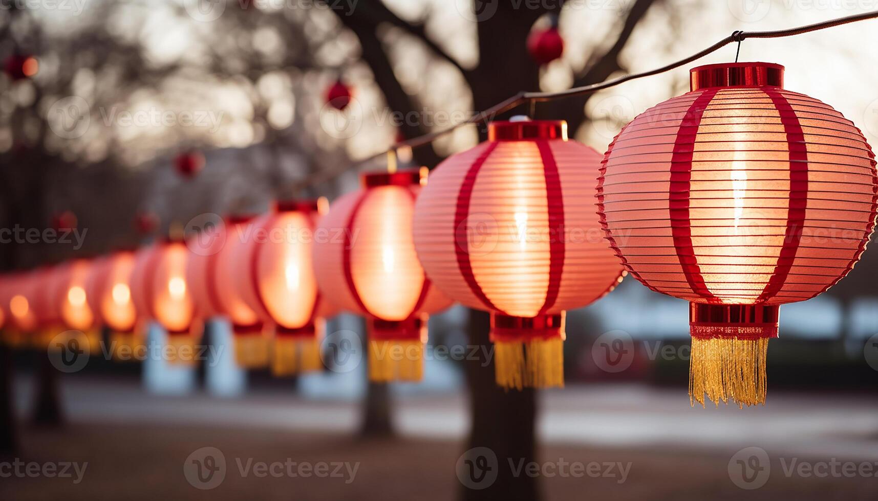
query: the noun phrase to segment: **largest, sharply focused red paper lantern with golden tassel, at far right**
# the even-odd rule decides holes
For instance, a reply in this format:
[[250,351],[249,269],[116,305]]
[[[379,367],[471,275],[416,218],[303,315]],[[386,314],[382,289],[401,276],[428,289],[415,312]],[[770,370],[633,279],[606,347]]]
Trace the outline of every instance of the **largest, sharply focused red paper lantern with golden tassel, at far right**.
[[763,62],[694,68],[692,90],[610,144],[599,211],[625,267],[690,302],[690,396],[764,404],[778,306],[860,259],[878,179],[860,130]]

